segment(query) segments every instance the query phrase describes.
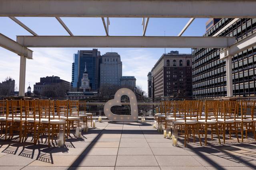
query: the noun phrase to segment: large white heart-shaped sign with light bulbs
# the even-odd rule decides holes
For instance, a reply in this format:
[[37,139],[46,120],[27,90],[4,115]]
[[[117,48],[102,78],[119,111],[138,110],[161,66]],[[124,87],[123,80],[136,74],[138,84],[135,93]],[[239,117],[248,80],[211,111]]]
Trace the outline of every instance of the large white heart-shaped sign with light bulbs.
[[[131,115],[115,115],[110,110],[112,106],[122,106],[121,97],[123,95],[126,95],[130,98],[131,112],[132,112]],[[121,122],[138,121],[138,104],[137,104],[137,98],[134,92],[128,88],[121,88],[117,90],[114,99],[106,102],[104,106],[104,114],[106,115],[106,117],[108,117],[108,119],[112,121],[121,121]]]

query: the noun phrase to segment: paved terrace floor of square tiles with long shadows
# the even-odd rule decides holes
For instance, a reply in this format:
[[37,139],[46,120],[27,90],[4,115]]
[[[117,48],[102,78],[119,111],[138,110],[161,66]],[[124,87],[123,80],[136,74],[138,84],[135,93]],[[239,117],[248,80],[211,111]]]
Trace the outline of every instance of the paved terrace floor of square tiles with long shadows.
[[[72,135],[73,136],[73,135]],[[207,147],[189,143],[173,147],[170,139],[152,128],[151,123],[96,123],[95,129],[80,139],[69,138],[65,147],[33,145],[31,137],[0,139],[0,169],[85,169],[85,170],[203,170],[256,169],[256,143],[243,144],[236,139],[219,145],[210,141]],[[191,140],[192,141],[192,140]]]

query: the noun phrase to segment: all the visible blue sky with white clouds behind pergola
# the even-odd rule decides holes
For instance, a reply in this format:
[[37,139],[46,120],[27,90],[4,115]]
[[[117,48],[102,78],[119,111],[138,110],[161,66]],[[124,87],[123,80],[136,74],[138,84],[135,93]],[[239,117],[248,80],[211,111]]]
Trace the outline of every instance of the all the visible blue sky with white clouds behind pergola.
[[[38,35],[68,35],[55,18],[18,17]],[[105,35],[101,18],[62,18],[74,35]],[[150,18],[147,36],[177,36],[189,18]],[[202,36],[205,33],[207,18],[198,18],[190,25],[183,36]],[[14,39],[16,35],[31,35],[10,18],[0,17],[0,33]],[[142,18],[110,18],[110,35],[142,35]],[[93,47],[97,48],[97,47]],[[71,81],[73,54],[78,50],[92,48],[30,48],[33,60],[26,63],[26,87],[40,81],[40,77],[60,76]],[[147,74],[164,53],[164,48],[98,48],[101,54],[117,52],[121,56],[123,76],[135,76],[136,85],[147,92]],[[191,49],[178,50],[180,53],[191,53]],[[20,58],[18,55],[0,47],[0,81],[7,76],[15,80],[18,90]],[[26,91],[26,90],[25,90]]]

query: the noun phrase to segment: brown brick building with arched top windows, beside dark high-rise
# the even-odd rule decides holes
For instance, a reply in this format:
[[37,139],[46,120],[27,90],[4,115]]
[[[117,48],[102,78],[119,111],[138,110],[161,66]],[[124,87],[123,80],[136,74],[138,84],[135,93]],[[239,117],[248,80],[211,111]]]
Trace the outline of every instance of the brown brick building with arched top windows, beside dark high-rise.
[[151,71],[152,97],[192,97],[191,63],[191,54],[163,54]]

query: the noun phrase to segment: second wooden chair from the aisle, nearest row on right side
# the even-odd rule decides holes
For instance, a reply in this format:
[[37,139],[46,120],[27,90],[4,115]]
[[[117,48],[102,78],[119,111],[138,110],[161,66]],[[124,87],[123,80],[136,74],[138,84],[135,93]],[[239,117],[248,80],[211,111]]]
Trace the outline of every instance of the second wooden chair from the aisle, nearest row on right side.
[[[207,135],[208,135],[208,129],[211,129],[211,140],[213,140],[213,134],[216,134],[219,139],[220,143],[220,134],[218,130],[218,124],[216,121],[212,119],[208,119],[210,116],[217,116],[219,111],[219,101],[218,100],[210,100],[201,102],[201,108],[204,104],[204,119],[198,120],[198,125],[200,131],[204,131],[202,134],[204,134],[204,145],[207,145]],[[202,110],[202,109],[201,109]],[[200,117],[201,118],[201,117]],[[199,131],[199,132],[200,132]],[[221,144],[221,143],[220,143]]]

